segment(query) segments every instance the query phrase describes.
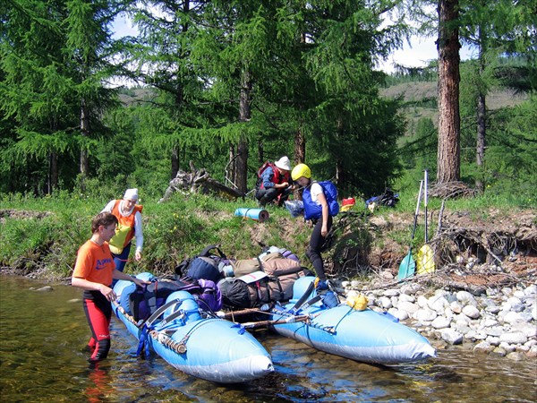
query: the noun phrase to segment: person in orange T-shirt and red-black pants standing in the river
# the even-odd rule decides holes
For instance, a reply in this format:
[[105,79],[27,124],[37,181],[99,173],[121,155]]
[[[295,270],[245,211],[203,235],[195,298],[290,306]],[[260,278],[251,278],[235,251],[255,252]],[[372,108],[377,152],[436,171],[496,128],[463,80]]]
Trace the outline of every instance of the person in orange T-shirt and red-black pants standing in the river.
[[110,318],[117,297],[110,287],[112,279],[132,281],[143,287],[147,281],[115,270],[108,241],[115,235],[117,219],[111,213],[99,213],[91,222],[91,238],[81,245],[72,272],[71,284],[84,290],[84,313],[88,318],[91,339],[86,349],[90,363],[104,360],[110,350]]

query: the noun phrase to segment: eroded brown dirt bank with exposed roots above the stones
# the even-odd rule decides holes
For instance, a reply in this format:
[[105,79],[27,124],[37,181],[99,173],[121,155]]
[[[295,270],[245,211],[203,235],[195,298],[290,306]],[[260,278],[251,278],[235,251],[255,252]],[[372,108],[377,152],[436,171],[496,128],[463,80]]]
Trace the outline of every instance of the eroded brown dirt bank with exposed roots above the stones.
[[[49,212],[0,210],[0,223],[6,218],[43,219]],[[434,275],[420,281],[431,286],[450,286],[480,292],[519,281],[537,279],[537,217],[535,210],[506,213],[496,209],[469,211],[430,211],[430,246],[434,251]],[[282,222],[283,221],[283,222]],[[267,246],[264,239],[273,224],[250,227],[252,244]],[[294,244],[297,233],[308,232],[303,219],[279,218],[277,225],[282,246]],[[389,282],[396,279],[400,262],[408,253],[413,216],[396,210],[341,213],[337,216],[324,254],[328,275],[333,279],[369,279]],[[414,245],[419,249],[420,245]],[[303,251],[296,251],[301,253]],[[41,251],[41,253],[44,253]],[[35,253],[34,253],[35,254]],[[42,254],[21,256],[32,265],[0,268],[31,278],[54,277],[39,264]],[[392,279],[385,279],[391,273]]]

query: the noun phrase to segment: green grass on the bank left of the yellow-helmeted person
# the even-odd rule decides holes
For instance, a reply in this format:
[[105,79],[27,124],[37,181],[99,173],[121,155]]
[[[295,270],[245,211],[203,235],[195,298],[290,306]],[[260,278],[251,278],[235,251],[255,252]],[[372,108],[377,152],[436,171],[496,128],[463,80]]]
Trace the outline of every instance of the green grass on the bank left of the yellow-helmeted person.
[[[142,195],[143,197],[143,195]],[[142,199],[143,200],[143,199]],[[0,210],[24,211],[0,221],[0,265],[29,273],[47,270],[67,277],[76,251],[90,238],[91,219],[108,200],[77,194],[34,198],[4,195]],[[224,253],[247,259],[261,252],[261,244],[287,247],[303,253],[310,236],[301,219],[290,219],[285,209],[269,207],[270,219],[259,223],[234,217],[238,207],[257,207],[255,201],[222,201],[209,196],[175,193],[170,201],[143,202],[144,248],[141,262],[129,262],[127,271],[171,273],[175,266],[209,244],[221,244]],[[37,213],[49,212],[46,217]],[[284,219],[285,218],[285,219]],[[287,240],[281,234],[286,233]],[[305,256],[303,256],[305,257]]]

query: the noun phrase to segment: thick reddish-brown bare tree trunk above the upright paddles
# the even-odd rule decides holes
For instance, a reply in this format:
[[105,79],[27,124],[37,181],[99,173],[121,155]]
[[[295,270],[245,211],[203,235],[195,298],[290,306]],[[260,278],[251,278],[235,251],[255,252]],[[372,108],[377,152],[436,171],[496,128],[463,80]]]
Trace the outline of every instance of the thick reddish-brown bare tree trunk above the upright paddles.
[[439,0],[439,184],[460,180],[458,0]]

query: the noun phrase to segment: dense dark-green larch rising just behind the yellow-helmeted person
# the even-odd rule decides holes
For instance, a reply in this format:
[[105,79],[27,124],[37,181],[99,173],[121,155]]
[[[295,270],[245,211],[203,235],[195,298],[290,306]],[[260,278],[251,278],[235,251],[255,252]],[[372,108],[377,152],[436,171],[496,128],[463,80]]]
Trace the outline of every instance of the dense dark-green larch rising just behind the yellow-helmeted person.
[[400,21],[380,28],[395,5],[310,3],[311,47],[303,57],[320,98],[311,108],[315,127],[308,150],[314,156],[309,160],[319,165],[320,175],[336,177],[348,192],[383,191],[388,172],[398,167],[396,139],[403,134],[403,121],[396,104],[380,98],[382,74],[373,70],[406,30]]

